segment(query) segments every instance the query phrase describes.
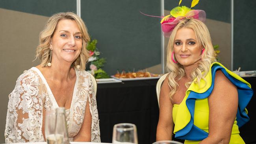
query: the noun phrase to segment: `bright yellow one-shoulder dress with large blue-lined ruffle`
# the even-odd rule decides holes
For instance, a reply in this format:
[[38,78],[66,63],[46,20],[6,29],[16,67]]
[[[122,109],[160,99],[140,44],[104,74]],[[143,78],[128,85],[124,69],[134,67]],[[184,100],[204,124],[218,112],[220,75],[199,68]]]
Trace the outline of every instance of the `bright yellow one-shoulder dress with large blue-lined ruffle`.
[[198,144],[208,137],[209,106],[208,96],[210,96],[214,78],[217,70],[221,70],[236,87],[238,92],[238,109],[236,120],[232,127],[230,144],[245,144],[239,135],[238,128],[249,121],[247,109],[245,108],[253,95],[250,84],[234,74],[220,63],[213,63],[210,71],[206,75],[206,81],[201,80],[201,88],[196,83],[191,83],[186,91],[186,95],[180,105],[173,105],[173,122],[175,138],[185,140],[185,144]]

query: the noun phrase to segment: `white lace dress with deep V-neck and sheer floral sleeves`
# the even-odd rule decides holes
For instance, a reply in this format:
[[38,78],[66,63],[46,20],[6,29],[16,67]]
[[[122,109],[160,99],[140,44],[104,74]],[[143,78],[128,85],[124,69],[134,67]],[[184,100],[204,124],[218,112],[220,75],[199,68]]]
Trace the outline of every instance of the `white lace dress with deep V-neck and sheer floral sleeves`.
[[[92,115],[91,141],[100,142],[98,110],[93,83],[88,72],[76,70],[76,83],[70,109],[66,110],[69,140],[78,134],[83,123],[85,105],[89,100]],[[43,109],[58,104],[43,74],[35,67],[25,70],[9,94],[4,132],[6,143],[44,142],[42,133]]]

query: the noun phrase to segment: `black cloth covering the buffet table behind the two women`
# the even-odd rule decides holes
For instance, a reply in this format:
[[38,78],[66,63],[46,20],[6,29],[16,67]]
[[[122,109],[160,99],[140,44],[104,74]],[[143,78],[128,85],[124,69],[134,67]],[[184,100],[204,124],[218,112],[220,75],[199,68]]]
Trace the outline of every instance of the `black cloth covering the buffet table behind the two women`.
[[[256,77],[244,79],[252,85],[255,93]],[[96,98],[102,142],[112,142],[113,126],[118,123],[135,124],[139,144],[152,144],[156,141],[159,118],[157,81],[158,79],[98,84]],[[254,96],[247,110],[250,121],[239,128],[239,131],[245,143],[252,144],[256,143],[256,98]]]

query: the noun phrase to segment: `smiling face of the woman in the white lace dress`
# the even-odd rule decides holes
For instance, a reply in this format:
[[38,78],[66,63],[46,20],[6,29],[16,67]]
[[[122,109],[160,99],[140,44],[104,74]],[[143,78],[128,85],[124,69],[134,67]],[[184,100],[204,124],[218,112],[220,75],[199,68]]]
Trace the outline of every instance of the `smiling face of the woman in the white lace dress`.
[[73,63],[82,50],[82,33],[75,20],[59,20],[51,38],[52,63]]

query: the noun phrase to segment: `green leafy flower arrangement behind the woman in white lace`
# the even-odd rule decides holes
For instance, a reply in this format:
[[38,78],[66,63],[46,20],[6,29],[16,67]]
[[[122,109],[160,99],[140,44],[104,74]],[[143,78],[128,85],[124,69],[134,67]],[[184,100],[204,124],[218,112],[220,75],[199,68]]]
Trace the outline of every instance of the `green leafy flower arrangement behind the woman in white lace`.
[[96,79],[109,78],[108,74],[102,70],[104,63],[106,63],[105,58],[99,58],[100,52],[96,48],[97,40],[93,39],[88,42],[87,50],[89,50],[90,58],[88,60],[89,68],[87,72],[91,73]]

